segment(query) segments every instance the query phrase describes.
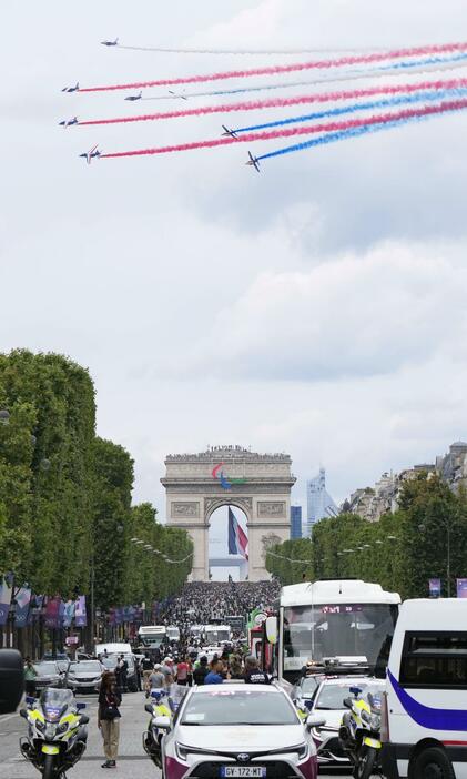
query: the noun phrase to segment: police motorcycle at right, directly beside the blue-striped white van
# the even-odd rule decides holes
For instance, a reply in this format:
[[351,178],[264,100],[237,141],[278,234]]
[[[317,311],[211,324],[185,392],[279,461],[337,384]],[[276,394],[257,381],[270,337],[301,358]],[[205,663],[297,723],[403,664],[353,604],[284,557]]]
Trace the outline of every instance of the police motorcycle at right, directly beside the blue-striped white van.
[[348,709],[342,718],[339,741],[354,766],[355,779],[369,779],[380,770],[380,712],[378,694],[361,698],[359,687],[351,687],[354,698],[344,698]]

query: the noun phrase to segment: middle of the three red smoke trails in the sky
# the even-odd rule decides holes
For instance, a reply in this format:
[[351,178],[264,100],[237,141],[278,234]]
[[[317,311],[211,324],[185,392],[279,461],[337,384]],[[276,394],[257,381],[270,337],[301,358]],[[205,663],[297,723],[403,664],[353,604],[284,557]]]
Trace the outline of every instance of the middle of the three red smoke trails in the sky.
[[467,79],[450,79],[447,81],[422,81],[416,84],[395,84],[392,87],[368,87],[367,89],[347,90],[341,92],[323,92],[322,94],[307,94],[300,98],[270,98],[268,100],[251,100],[244,103],[227,103],[225,105],[204,105],[183,111],[165,111],[160,113],[145,113],[136,117],[118,117],[116,119],[91,119],[79,122],[80,127],[90,124],[124,124],[128,122],[150,122],[161,119],[181,119],[184,117],[202,117],[209,113],[231,113],[233,111],[256,111],[265,108],[287,108],[288,105],[303,105],[306,103],[327,103],[336,100],[357,100],[374,94],[398,94],[418,92],[418,90],[460,89],[467,87]]

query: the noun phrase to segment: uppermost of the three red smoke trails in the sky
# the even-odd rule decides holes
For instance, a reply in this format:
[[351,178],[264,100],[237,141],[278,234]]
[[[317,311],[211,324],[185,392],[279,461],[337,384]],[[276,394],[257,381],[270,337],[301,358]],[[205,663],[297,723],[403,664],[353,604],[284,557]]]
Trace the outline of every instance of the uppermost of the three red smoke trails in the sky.
[[231,70],[207,75],[187,75],[181,79],[160,79],[159,81],[139,81],[129,84],[113,84],[111,87],[87,87],[80,92],[108,92],[119,89],[145,89],[146,87],[175,87],[176,84],[193,84],[205,81],[222,81],[223,79],[244,79],[251,75],[276,75],[277,73],[294,73],[301,70],[315,70],[325,68],[341,68],[353,64],[372,64],[384,60],[399,60],[405,57],[419,57],[425,54],[453,53],[465,51],[465,43],[445,43],[443,45],[425,45],[413,49],[397,49],[395,51],[377,52],[375,54],[357,54],[356,57],[341,57],[333,60],[316,60],[314,62],[297,62],[288,65],[272,65],[268,68],[254,68],[253,70]]

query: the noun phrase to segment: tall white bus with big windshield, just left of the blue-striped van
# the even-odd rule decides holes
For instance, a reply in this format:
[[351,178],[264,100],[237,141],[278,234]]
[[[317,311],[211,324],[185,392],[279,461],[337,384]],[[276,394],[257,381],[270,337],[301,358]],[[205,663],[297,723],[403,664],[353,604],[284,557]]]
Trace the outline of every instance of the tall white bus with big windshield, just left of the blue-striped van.
[[[341,658],[367,665],[387,661],[400,596],[359,579],[323,579],[283,587],[278,604],[276,672],[295,684],[308,660]],[[267,638],[277,635],[266,619]],[[386,651],[386,657],[384,652]]]

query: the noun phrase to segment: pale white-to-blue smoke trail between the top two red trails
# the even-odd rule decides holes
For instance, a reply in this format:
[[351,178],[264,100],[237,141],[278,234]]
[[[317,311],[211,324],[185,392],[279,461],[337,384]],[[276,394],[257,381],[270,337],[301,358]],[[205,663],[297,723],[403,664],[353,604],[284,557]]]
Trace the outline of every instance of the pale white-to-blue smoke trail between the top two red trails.
[[[393,64],[380,65],[378,68],[358,68],[345,71],[345,75],[336,75],[328,79],[314,79],[308,81],[291,81],[276,84],[263,84],[262,87],[238,87],[236,89],[221,89],[211,92],[184,92],[186,98],[216,98],[225,94],[245,94],[247,92],[267,92],[276,89],[288,89],[295,87],[315,87],[318,84],[333,83],[338,81],[352,81],[354,79],[369,79],[372,77],[392,75],[392,71],[404,72],[425,72],[425,69],[433,70],[435,65],[451,65],[453,69],[467,63],[467,53],[455,54],[453,57],[429,57],[423,60],[407,60],[403,62],[394,62]],[[436,69],[436,68],[435,68]],[[143,98],[143,100],[177,100],[177,95],[156,95],[153,98]]]

